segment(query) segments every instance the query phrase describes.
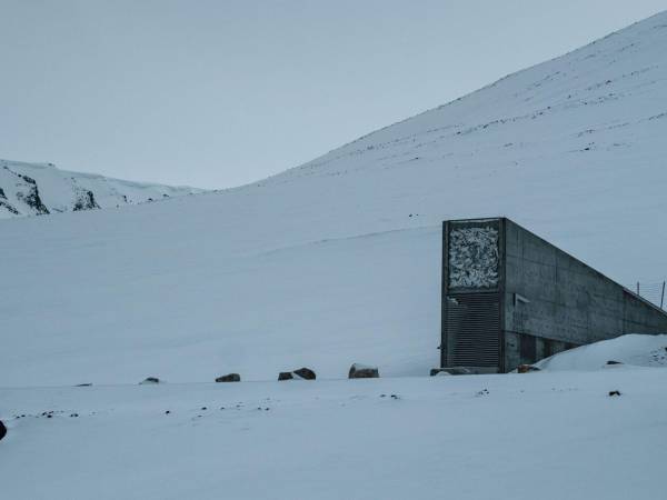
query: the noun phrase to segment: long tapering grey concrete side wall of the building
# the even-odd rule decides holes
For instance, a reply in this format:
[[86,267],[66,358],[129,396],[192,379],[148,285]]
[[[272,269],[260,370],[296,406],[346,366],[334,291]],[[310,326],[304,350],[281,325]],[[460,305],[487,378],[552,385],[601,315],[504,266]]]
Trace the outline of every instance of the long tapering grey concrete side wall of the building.
[[667,332],[664,311],[507,219],[504,244],[505,371],[624,333]]

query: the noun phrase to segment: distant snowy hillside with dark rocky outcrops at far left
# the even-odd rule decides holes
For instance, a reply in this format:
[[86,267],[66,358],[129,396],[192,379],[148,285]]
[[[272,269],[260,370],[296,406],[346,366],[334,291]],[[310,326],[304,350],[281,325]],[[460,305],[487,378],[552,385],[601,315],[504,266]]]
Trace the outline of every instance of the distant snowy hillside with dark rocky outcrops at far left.
[[115,208],[201,192],[0,160],[0,219]]

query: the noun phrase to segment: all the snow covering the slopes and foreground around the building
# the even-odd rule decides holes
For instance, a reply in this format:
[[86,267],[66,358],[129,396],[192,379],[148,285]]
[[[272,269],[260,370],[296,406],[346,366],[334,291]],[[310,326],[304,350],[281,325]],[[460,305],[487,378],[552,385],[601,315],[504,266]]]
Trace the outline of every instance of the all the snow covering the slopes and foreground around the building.
[[[0,491],[666,497],[665,336],[427,377],[442,220],[508,216],[620,282],[665,278],[665,53],[661,13],[247,187],[1,220]],[[24,168],[70,207],[60,171]],[[356,360],[386,378],[346,380]]]

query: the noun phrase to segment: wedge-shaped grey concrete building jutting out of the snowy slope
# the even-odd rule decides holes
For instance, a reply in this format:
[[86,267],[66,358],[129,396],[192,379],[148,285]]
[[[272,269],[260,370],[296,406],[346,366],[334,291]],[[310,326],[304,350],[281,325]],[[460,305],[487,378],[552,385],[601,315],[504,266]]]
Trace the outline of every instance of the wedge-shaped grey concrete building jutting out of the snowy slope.
[[624,333],[665,332],[665,311],[509,219],[444,222],[444,368],[507,372]]

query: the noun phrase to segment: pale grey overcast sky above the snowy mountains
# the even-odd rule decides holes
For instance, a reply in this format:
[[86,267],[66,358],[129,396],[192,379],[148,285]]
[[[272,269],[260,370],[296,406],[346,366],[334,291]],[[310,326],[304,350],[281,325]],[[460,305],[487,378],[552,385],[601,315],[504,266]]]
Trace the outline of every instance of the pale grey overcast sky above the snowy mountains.
[[665,0],[0,0],[0,158],[238,186],[664,9]]

